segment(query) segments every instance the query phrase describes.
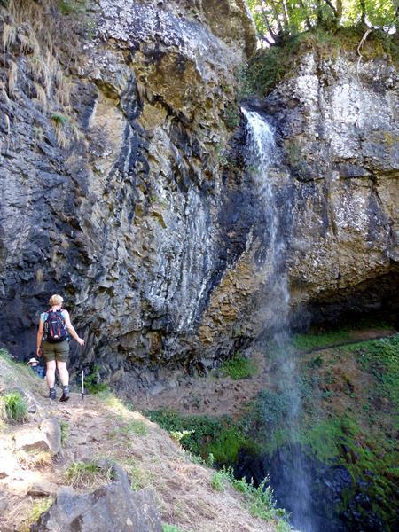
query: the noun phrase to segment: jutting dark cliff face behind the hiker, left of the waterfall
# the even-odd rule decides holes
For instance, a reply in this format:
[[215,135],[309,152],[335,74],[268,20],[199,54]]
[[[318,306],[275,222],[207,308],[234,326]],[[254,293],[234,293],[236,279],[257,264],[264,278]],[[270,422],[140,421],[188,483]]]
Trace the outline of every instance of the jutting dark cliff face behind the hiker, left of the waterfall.
[[191,367],[227,265],[221,167],[255,46],[246,6],[19,7],[2,8],[2,340],[32,349],[62,292],[88,325],[87,362]]

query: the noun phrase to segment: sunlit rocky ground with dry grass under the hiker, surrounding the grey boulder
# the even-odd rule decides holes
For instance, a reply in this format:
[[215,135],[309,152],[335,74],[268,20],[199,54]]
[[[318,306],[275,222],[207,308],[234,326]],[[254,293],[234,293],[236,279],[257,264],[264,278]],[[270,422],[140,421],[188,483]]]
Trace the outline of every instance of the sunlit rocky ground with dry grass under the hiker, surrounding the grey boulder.
[[150,490],[163,524],[199,532],[274,529],[250,515],[238,492],[227,487],[214,491],[211,469],[193,463],[165,431],[113,396],[86,396],[82,401],[76,393],[68,403],[49,403],[43,381],[27,368],[0,357],[0,375],[1,394],[20,389],[31,411],[27,423],[4,424],[0,433],[2,532],[28,530],[59,490],[65,493],[71,483],[72,497],[98,488],[104,475],[89,482],[73,475],[68,481],[67,471],[71,465],[102,458],[121,465],[133,489]]

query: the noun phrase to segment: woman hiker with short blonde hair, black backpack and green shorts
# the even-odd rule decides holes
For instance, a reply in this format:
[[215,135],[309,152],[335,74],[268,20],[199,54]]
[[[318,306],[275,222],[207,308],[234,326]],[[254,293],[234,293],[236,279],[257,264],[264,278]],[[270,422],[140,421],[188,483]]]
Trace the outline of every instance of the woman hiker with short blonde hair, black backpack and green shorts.
[[69,334],[81,347],[84,346],[84,340],[74,330],[69,312],[62,308],[63,301],[60,295],[52,295],[49,301],[51,309],[40,315],[36,352],[37,356],[43,354],[46,362],[46,381],[50,390],[50,399],[55,399],[57,396],[54,387],[57,367],[62,384],[62,395],[59,400],[67,401],[69,399],[69,373],[66,369],[66,362],[69,355]]

